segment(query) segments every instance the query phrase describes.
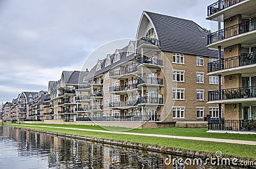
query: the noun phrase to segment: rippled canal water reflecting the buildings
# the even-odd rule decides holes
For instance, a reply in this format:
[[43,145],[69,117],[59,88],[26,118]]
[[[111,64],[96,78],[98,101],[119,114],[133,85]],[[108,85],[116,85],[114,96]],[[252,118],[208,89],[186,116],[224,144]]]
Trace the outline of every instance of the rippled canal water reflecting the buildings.
[[217,168],[196,165],[185,167],[183,165],[166,165],[164,159],[168,156],[156,152],[138,151],[0,126],[1,169]]

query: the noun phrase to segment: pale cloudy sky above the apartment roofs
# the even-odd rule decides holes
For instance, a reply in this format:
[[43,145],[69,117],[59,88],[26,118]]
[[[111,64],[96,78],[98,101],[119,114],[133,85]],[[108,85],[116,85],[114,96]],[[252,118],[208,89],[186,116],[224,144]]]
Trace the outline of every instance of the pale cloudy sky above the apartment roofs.
[[[205,17],[215,1],[0,0],[0,102],[22,91],[46,91],[49,80],[60,79],[63,70],[81,70],[101,45],[134,39],[143,10],[210,29]],[[88,68],[94,64],[86,62]]]

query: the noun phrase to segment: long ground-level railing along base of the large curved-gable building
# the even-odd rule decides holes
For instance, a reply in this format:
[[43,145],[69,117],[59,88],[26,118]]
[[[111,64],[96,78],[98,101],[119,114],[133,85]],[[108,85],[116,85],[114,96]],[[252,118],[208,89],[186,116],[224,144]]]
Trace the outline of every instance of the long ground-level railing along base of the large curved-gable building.
[[77,117],[76,121],[160,121],[160,115]]

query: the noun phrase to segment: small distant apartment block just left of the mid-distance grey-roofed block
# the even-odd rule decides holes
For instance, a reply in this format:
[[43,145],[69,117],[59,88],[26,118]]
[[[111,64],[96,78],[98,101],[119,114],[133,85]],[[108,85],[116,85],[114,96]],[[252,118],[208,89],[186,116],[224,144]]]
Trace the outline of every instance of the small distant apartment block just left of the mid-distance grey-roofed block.
[[29,103],[29,118],[25,121],[44,121],[44,114],[46,113],[46,102],[47,98],[46,91],[40,91],[34,95],[33,101]]

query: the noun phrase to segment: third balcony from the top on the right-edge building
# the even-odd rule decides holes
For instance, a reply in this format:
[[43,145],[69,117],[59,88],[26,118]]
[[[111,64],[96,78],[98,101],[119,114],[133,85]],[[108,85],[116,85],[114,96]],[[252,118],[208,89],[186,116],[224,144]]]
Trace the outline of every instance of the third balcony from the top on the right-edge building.
[[[220,64],[220,68],[219,68],[219,64]],[[216,73],[217,75],[218,74],[231,75],[235,73],[253,73],[255,72],[255,66],[256,66],[253,64],[256,64],[256,52],[229,57],[227,59],[221,59],[221,61],[209,62],[207,71],[209,75],[213,75]],[[228,72],[230,71],[228,69],[232,69],[232,72]]]

